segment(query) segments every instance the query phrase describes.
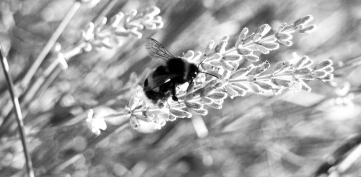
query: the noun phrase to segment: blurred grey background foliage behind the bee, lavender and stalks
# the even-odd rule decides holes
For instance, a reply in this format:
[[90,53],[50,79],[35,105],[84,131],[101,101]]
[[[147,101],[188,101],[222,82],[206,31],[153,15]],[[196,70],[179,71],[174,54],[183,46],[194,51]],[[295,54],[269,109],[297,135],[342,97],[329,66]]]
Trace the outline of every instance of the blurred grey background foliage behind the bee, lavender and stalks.
[[[80,30],[109,0],[83,5],[58,42],[74,47]],[[0,41],[15,81],[21,80],[74,0],[1,0]],[[295,34],[293,45],[260,54],[271,66],[307,55],[316,63],[332,59],[332,82],[310,81],[311,92],[285,90],[279,95],[247,94],[226,99],[223,109],[206,116],[168,122],[160,130],[109,127],[99,136],[76,123],[89,108],[98,115],[122,111],[141,84],[147,67],[143,40],[129,37],[123,45],[92,50],[71,58],[69,68],[49,79],[25,112],[25,127],[36,175],[44,176],[309,176],[347,137],[360,133],[361,2],[358,0],[118,0],[106,15],[156,5],[164,27],[144,31],[174,55],[203,51],[208,41],[230,36],[233,44],[243,27],[254,31],[268,23],[275,29],[311,14],[317,29]],[[51,53],[49,54],[51,55]],[[36,77],[51,63],[46,59]],[[244,62],[242,66],[249,63]],[[0,74],[0,106],[9,100]],[[2,111],[0,122],[7,113]],[[15,117],[12,117],[15,119]],[[207,136],[197,134],[199,122]],[[202,123],[201,123],[202,124]],[[25,160],[11,123],[1,130],[0,176],[22,176]],[[3,127],[4,128],[4,127]],[[103,132],[104,133],[104,132]],[[99,139],[99,138],[98,138]],[[359,165],[342,175],[359,176]]]

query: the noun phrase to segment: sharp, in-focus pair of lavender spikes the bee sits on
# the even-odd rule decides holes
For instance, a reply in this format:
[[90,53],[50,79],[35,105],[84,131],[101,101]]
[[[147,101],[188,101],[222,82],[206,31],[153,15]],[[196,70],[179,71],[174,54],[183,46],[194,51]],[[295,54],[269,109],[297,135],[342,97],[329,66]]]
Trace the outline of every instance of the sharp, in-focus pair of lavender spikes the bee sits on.
[[307,15],[293,24],[283,23],[268,36],[266,34],[271,30],[268,24],[261,25],[252,33],[249,33],[248,28],[245,27],[234,46],[229,49],[226,49],[229,36],[224,36],[216,46],[214,46],[215,41],[211,40],[204,53],[188,51],[183,54],[183,58],[189,62],[199,63],[201,59],[207,57],[201,67],[206,72],[217,75],[218,78],[200,75],[189,87],[180,86],[177,93],[180,104],[169,99],[169,106],[161,101],[157,104],[149,103],[142,87],[138,85],[135,96],[129,100],[124,114],[130,116],[130,124],[133,128],[139,127],[144,122],[150,122],[155,128],[160,129],[166,121],[192,117],[191,112],[206,115],[207,107],[221,109],[227,97],[244,96],[247,92],[264,93],[268,90],[279,93],[285,88],[310,91],[311,88],[306,84],[306,80],[326,81],[333,78],[331,60],[321,61],[311,67],[313,60],[307,56],[300,57],[294,54],[289,61],[277,63],[270,74],[264,73],[270,67],[268,61],[242,68],[239,68],[239,65],[244,59],[251,62],[258,61],[259,57],[254,51],[267,54],[279,48],[279,43],[291,45],[293,32],[304,33],[315,28],[314,25],[307,25],[311,19],[312,16]]

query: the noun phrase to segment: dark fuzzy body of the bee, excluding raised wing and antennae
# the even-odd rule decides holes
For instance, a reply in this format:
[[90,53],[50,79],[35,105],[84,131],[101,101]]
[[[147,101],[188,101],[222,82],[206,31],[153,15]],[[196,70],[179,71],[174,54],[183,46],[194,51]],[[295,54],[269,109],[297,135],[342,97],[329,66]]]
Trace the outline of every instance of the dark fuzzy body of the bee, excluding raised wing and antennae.
[[[157,66],[144,80],[145,95],[153,101],[166,100],[170,94],[177,100],[175,96],[175,87],[177,85],[190,82],[199,72],[198,67],[194,63],[190,63],[180,57],[174,57],[166,61],[166,64]],[[166,77],[161,84],[155,84],[154,80],[159,77]]]

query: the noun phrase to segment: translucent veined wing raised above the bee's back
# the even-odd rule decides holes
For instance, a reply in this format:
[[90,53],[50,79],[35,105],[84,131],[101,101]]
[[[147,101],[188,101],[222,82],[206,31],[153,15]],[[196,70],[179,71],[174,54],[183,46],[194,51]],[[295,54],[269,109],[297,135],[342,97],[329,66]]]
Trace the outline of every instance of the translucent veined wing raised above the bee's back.
[[174,56],[169,53],[167,49],[164,48],[158,41],[153,38],[145,38],[145,48],[148,51],[149,56],[152,60],[159,62],[162,65],[166,65],[166,62],[169,59],[174,58]]

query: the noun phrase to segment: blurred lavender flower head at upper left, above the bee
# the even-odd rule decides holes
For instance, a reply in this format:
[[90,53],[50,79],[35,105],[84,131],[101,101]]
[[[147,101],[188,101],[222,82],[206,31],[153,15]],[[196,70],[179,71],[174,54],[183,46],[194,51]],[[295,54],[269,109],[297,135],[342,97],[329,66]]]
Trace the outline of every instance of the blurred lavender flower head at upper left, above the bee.
[[129,35],[137,38],[142,37],[141,31],[144,29],[154,30],[163,27],[160,9],[156,6],[147,7],[144,12],[138,13],[136,9],[129,13],[119,11],[109,20],[104,17],[99,25],[95,26],[89,22],[82,30],[82,42],[84,51],[92,48],[112,48],[122,45],[122,37]]

